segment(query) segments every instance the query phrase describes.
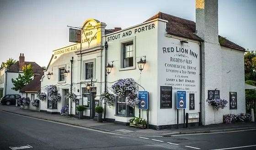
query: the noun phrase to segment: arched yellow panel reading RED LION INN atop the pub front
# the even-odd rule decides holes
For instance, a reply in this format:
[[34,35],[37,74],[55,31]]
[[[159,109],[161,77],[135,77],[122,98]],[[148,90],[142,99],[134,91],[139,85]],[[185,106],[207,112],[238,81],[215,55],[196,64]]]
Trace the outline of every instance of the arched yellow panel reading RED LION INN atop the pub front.
[[101,45],[101,22],[88,19],[81,29],[82,50]]

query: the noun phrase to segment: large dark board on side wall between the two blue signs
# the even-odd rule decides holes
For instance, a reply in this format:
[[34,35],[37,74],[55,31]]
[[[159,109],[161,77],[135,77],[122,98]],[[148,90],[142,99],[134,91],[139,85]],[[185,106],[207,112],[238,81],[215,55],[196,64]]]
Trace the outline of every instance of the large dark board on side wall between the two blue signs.
[[172,108],[172,86],[160,86],[161,108]]

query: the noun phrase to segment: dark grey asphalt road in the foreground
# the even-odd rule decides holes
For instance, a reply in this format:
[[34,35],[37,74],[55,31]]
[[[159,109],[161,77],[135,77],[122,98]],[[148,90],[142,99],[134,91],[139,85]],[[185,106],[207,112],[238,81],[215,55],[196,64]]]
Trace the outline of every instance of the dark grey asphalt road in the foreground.
[[[92,130],[0,111],[0,150],[30,145],[34,150],[255,150],[256,130],[172,137],[137,137]],[[240,146],[249,146],[241,147]],[[30,149],[26,149],[30,150]]]

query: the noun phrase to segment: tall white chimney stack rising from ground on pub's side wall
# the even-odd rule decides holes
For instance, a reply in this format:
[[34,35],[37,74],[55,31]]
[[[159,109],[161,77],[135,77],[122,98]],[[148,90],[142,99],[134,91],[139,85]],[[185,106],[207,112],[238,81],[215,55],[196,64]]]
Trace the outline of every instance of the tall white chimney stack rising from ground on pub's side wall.
[[202,123],[203,125],[221,123],[222,119],[214,119],[214,110],[206,102],[208,90],[222,91],[222,50],[218,37],[218,0],[196,0],[196,30],[202,42]]

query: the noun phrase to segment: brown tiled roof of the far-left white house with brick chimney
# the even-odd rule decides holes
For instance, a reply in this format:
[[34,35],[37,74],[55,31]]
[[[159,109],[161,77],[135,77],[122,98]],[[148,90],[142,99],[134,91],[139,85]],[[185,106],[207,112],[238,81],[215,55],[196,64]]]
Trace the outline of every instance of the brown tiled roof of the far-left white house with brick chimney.
[[[25,65],[29,65],[29,64],[32,65],[33,73],[40,74],[41,72],[43,72],[43,68],[40,67],[40,65],[38,65],[36,62],[25,61]],[[20,68],[19,61],[16,61],[16,63],[11,65],[7,71],[19,72],[19,68]]]

